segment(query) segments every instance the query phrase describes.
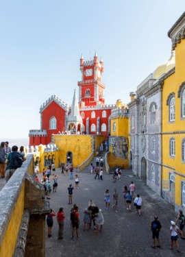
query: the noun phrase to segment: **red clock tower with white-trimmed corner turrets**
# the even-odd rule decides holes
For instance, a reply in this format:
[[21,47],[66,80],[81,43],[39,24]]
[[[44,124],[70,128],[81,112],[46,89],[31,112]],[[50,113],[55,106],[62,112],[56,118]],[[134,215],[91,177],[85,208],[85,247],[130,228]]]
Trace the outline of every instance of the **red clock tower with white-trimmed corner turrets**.
[[95,53],[93,60],[84,61],[80,58],[80,71],[82,72],[82,81],[79,81],[79,108],[84,106],[97,106],[105,104],[104,90],[105,85],[101,82],[103,73],[103,60],[98,60]]

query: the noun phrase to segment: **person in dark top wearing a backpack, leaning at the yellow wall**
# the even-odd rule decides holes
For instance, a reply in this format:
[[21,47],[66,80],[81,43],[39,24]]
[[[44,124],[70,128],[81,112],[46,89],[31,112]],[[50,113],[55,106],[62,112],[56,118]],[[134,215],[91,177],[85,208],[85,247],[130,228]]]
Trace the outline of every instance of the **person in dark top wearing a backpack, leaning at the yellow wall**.
[[14,145],[12,147],[12,152],[8,154],[5,160],[5,164],[7,164],[7,167],[5,169],[6,183],[8,182],[8,180],[10,180],[10,178],[12,177],[16,169],[22,166],[25,160],[26,158],[21,156],[21,154],[18,153],[18,147]]

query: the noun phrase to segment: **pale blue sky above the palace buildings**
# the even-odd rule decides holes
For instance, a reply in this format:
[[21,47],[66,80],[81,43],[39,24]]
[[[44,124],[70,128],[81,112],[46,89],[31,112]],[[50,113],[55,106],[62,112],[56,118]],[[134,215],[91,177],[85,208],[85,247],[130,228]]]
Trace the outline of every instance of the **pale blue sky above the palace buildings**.
[[169,60],[167,32],[184,10],[184,0],[0,1],[0,138],[39,130],[51,95],[71,105],[82,54],[103,58],[106,103],[129,103]]

